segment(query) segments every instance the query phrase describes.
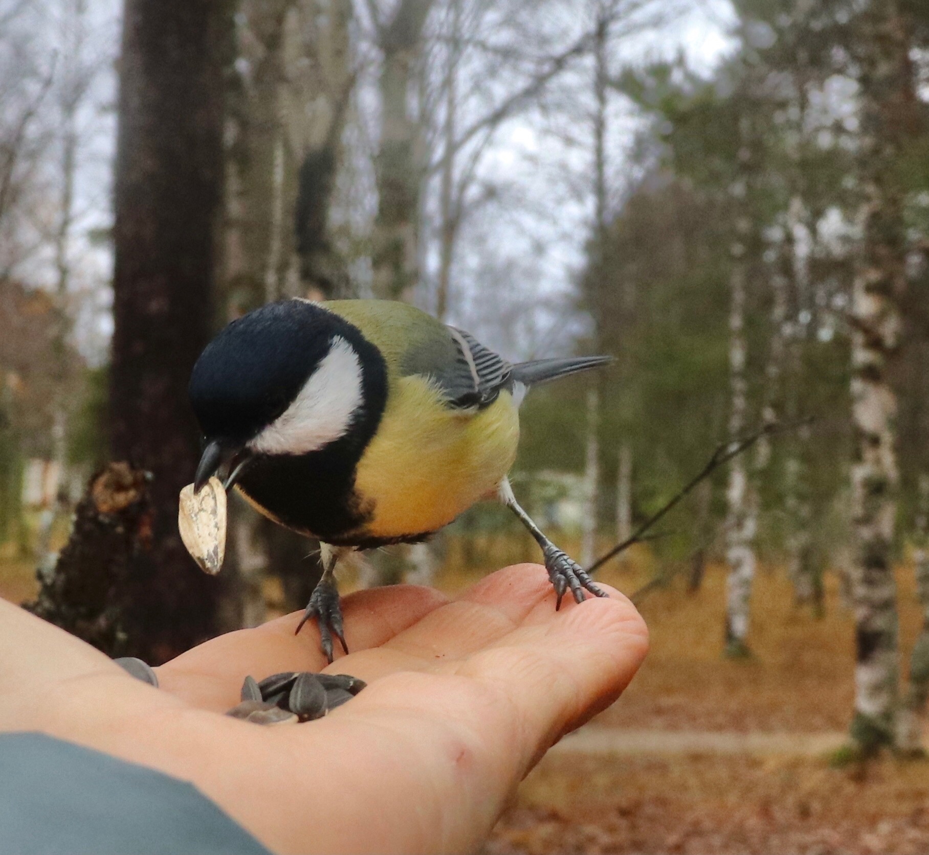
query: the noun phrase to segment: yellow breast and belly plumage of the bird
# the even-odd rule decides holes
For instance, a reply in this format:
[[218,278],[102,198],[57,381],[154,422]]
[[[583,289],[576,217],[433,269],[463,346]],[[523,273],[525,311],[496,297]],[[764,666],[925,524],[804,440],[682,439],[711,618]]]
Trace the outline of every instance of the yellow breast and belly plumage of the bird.
[[477,412],[455,411],[425,377],[391,378],[384,416],[355,477],[362,507],[373,512],[365,535],[401,538],[448,525],[496,491],[518,441],[508,392]]

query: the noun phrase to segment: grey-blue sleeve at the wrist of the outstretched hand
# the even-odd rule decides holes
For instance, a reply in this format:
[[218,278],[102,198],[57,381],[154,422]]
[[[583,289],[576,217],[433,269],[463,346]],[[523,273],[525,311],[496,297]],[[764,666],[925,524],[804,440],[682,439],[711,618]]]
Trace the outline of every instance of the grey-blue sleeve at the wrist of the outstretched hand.
[[192,784],[46,736],[0,733],[0,855],[270,855]]

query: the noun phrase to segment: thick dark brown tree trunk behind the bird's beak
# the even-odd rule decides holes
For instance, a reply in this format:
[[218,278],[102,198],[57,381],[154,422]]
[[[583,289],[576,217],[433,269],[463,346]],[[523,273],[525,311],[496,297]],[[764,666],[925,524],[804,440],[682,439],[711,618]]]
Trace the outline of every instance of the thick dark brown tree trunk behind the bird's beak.
[[216,628],[216,579],[177,533],[200,457],[190,369],[210,335],[223,197],[223,69],[231,6],[126,0],[116,158],[110,429],[151,473],[151,546],[133,558],[127,653],[164,662]]

